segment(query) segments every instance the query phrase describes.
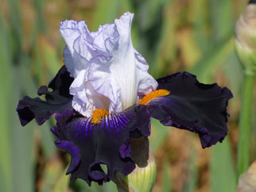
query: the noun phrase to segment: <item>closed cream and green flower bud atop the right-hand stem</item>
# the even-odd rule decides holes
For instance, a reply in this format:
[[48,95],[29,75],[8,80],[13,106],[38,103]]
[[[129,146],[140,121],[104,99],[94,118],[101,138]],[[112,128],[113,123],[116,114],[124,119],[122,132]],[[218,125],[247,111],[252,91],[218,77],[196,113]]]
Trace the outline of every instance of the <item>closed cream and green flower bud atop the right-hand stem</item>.
[[256,1],[251,0],[235,25],[235,48],[247,73],[256,72]]

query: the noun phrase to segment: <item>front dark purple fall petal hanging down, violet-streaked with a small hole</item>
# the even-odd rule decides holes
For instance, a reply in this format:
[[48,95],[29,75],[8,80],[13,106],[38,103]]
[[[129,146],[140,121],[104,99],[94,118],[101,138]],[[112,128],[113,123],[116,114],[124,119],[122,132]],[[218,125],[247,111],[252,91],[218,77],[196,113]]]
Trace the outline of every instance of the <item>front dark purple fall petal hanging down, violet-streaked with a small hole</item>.
[[[141,117],[141,121],[138,121]],[[84,179],[108,182],[116,172],[130,174],[135,168],[130,156],[130,132],[149,136],[149,115],[145,106],[132,106],[121,113],[103,117],[100,124],[91,124],[91,118],[77,116],[72,110],[56,114],[56,145],[72,157],[67,174],[71,180]],[[107,166],[107,172],[101,165]]]

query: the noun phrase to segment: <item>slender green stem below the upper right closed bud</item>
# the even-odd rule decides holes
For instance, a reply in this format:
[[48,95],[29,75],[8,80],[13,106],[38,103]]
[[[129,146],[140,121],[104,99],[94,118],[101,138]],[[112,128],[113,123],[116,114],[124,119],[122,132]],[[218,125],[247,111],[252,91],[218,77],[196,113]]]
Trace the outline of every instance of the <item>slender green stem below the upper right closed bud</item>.
[[242,82],[242,106],[239,117],[238,178],[249,167],[253,90],[254,73],[245,72]]

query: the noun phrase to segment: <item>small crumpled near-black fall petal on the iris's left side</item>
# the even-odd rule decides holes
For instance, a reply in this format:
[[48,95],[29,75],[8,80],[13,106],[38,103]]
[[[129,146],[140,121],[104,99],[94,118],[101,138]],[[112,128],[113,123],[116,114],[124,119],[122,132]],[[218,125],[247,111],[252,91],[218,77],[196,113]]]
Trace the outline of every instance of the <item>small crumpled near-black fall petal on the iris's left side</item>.
[[[33,118],[38,125],[42,125],[53,113],[62,113],[66,109],[72,109],[72,95],[69,94],[69,86],[73,79],[70,77],[67,68],[61,67],[56,77],[47,86],[41,86],[37,94],[45,94],[46,102],[41,98],[29,98],[25,96],[18,102],[17,113],[21,125],[26,125]],[[48,91],[52,88],[52,91]]]

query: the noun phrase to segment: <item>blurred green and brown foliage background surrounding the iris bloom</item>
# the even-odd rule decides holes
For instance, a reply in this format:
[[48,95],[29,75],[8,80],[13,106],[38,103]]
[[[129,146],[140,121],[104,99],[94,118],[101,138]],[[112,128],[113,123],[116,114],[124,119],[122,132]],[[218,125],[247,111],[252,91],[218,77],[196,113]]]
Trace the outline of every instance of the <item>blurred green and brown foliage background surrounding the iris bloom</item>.
[[[61,20],[87,22],[91,31],[134,13],[134,48],[158,78],[189,71],[202,83],[228,86],[229,134],[223,144],[202,149],[196,134],[152,121],[150,143],[157,163],[153,191],[235,191],[242,69],[233,43],[244,0],[0,0],[0,191],[116,191],[113,182],[91,188],[64,175],[68,155],[50,128],[54,121],[21,127],[15,111],[25,95],[37,97],[63,65]],[[255,90],[255,89],[254,89]],[[254,94],[255,98],[255,94]],[[251,162],[256,159],[256,122]],[[249,138],[248,138],[249,139]]]

